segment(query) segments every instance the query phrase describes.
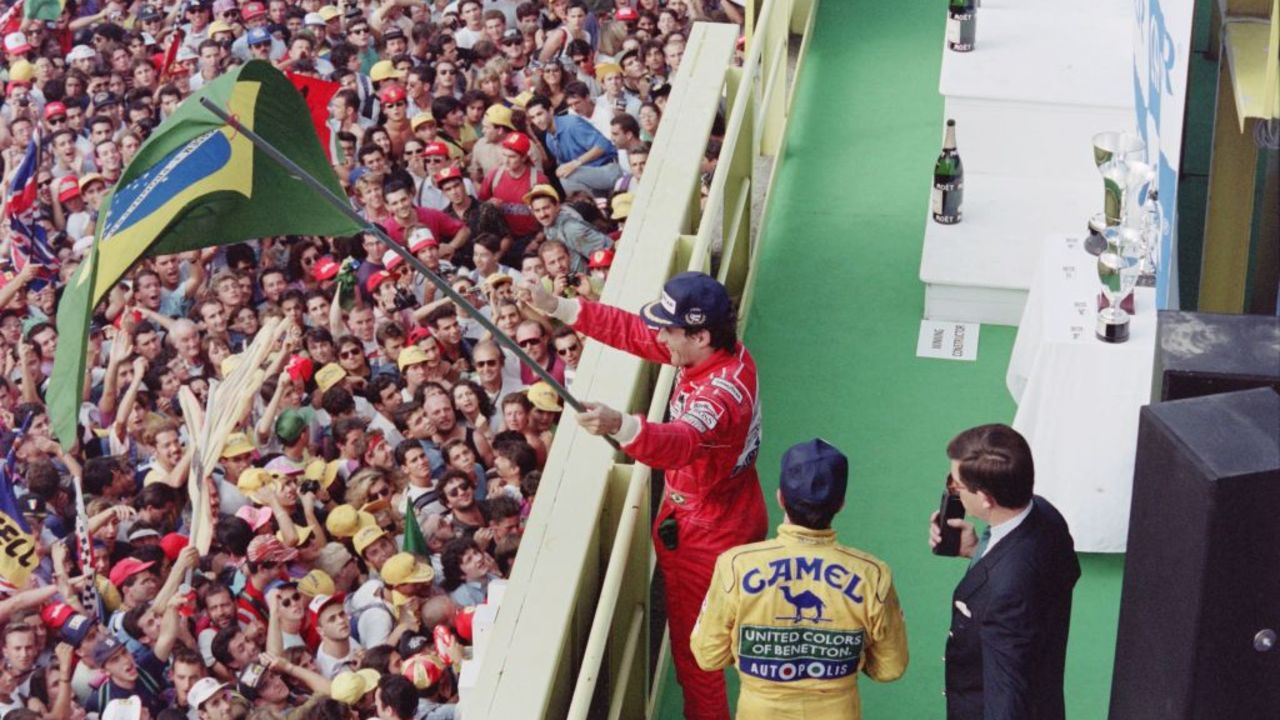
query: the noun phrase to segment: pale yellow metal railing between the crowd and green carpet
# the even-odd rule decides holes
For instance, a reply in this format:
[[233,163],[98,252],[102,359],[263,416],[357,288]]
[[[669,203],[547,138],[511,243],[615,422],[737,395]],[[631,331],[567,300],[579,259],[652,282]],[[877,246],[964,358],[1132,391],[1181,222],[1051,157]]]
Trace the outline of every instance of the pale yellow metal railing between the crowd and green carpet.
[[[604,302],[639,309],[672,274],[710,272],[714,255],[745,320],[753,178],[759,159],[781,151],[790,36],[808,35],[814,5],[765,0],[753,13],[758,35],[741,68],[731,67],[736,27],[694,26]],[[719,110],[724,138],[704,201],[703,154]],[[572,389],[662,420],[675,369],[654,370],[589,341]],[[463,698],[467,720],[653,715],[660,688],[649,682],[650,474],[620,462],[571,416],[561,423],[476,685]]]

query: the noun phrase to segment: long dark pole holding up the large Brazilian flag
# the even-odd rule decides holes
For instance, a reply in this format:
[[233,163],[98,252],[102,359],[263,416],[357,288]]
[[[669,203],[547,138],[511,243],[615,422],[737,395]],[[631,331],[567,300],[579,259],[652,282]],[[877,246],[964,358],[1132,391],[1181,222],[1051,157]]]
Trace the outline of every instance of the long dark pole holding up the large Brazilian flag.
[[[484,329],[489,331],[489,333],[493,334],[494,340],[506,346],[507,350],[515,352],[516,357],[518,357],[521,363],[527,365],[539,378],[543,379],[543,382],[552,386],[552,388],[557,393],[559,393],[561,397],[564,398],[564,402],[567,402],[570,407],[572,407],[579,413],[586,411],[586,406],[582,405],[576,397],[573,397],[573,395],[570,393],[568,388],[566,388],[559,380],[557,380],[547,370],[547,368],[543,368],[539,363],[536,363],[532,357],[530,357],[529,354],[525,352],[525,350],[520,347],[520,345],[515,340],[507,336],[507,333],[502,332],[502,329],[499,329],[498,325],[493,323],[493,320],[484,316],[484,314],[480,313],[480,310],[476,306],[471,305],[471,302],[468,302],[466,297],[463,297],[456,290],[453,290],[444,278],[431,272],[431,269],[426,266],[426,263],[422,263],[421,260],[417,259],[417,255],[413,255],[412,252],[408,251],[407,247],[388,237],[387,233],[379,229],[374,223],[371,223],[366,218],[362,218],[360,213],[357,213],[356,209],[351,206],[351,202],[347,201],[346,197],[339,197],[337,193],[329,190],[323,182],[312,177],[311,173],[306,172],[302,167],[300,167],[287,155],[276,150],[262,136],[255,133],[253,131],[241,124],[239,120],[229,115],[225,110],[219,108],[207,97],[201,97],[200,104],[204,105],[205,109],[212,113],[214,115],[218,115],[218,118],[221,119],[224,123],[236,128],[236,132],[244,135],[244,137],[247,137],[250,142],[253,143],[255,147],[265,152],[266,156],[270,158],[271,160],[275,160],[278,165],[287,169],[291,174],[293,174],[293,177],[306,183],[307,187],[316,191],[317,195],[324,197],[335,209],[342,211],[344,215],[351,218],[357,224],[362,225],[364,232],[372,234],[383,245],[385,245],[397,255],[399,255],[402,259],[404,259],[404,261],[412,265],[415,270],[417,270],[428,281],[430,281],[431,284],[436,287],[436,290],[439,290],[445,295],[445,297],[452,300],[454,305],[462,307],[468,315],[471,315],[472,319],[475,319],[475,322],[480,323],[480,325]],[[600,437],[603,437],[616,450],[622,450],[622,447],[618,445],[618,441],[613,439],[612,437],[609,436],[600,436]]]

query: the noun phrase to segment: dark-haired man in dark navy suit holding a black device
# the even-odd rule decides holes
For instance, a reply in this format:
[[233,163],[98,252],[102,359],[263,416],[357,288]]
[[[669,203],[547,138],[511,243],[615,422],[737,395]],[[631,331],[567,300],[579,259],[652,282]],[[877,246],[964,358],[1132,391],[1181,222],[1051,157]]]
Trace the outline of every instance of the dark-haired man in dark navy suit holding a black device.
[[[987,523],[960,528],[969,571],[956,585],[947,633],[948,720],[1061,720],[1071,591],[1080,577],[1059,511],[1034,496],[1027,441],[1007,425],[965,430],[947,446],[950,492]],[[941,539],[937,512],[929,542]]]

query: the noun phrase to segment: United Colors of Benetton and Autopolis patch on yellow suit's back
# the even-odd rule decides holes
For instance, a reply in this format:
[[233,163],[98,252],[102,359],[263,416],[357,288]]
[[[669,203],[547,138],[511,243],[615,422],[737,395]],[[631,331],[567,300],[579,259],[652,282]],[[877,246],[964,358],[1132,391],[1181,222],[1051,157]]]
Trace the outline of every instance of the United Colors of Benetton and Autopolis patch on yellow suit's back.
[[845,678],[858,671],[864,643],[863,630],[742,625],[739,670],[777,683]]

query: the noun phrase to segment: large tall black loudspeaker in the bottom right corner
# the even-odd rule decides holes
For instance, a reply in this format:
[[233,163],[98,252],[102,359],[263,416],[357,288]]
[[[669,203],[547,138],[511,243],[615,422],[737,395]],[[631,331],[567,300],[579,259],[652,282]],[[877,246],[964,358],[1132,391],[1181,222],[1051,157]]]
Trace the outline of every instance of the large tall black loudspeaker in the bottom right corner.
[[1280,395],[1143,407],[1111,719],[1280,717],[1277,634]]

